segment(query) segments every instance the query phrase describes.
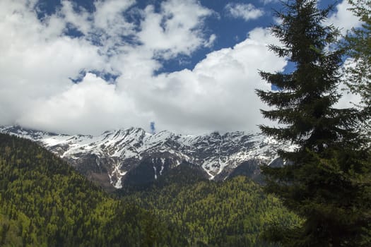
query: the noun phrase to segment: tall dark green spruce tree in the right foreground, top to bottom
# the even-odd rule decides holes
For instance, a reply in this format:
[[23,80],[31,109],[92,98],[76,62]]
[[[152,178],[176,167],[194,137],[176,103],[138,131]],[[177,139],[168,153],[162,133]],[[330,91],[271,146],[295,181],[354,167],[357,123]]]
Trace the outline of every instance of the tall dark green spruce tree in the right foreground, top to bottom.
[[324,25],[331,7],[317,8],[315,0],[289,0],[277,12],[281,23],[271,32],[282,47],[271,45],[278,56],[295,64],[292,73],[260,72],[278,91],[257,90],[272,107],[261,110],[278,121],[261,131],[296,145],[278,151],[283,167],[263,167],[265,190],[302,217],[296,227],[272,225],[264,236],[283,246],[370,246],[370,157],[355,129],[361,116],[356,109],[336,109],[341,97],[341,49],[333,49],[338,31]]

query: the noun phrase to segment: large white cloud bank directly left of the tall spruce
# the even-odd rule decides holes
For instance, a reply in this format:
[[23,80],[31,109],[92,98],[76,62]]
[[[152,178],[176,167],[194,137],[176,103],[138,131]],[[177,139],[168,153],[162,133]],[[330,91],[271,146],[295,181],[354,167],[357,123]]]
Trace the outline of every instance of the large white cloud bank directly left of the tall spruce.
[[211,52],[192,71],[122,83],[139,110],[153,114],[158,128],[183,133],[256,131],[257,124],[264,122],[259,109],[266,107],[254,89],[270,89],[258,69],[282,71],[286,64],[267,49],[272,42],[277,40],[257,28],[235,47]]

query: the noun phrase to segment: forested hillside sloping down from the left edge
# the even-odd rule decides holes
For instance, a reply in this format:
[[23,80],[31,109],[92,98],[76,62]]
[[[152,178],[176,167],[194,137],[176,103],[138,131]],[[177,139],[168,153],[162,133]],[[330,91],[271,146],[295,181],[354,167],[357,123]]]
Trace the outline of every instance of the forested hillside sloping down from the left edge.
[[0,246],[165,246],[170,236],[30,140],[0,134],[0,171]]

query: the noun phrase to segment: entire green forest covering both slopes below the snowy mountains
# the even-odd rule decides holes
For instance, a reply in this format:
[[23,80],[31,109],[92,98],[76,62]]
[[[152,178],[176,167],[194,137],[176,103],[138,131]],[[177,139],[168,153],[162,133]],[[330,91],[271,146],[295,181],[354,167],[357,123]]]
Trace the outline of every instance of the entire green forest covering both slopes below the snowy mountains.
[[5,134],[0,171],[0,246],[274,246],[264,227],[299,220],[247,178],[216,183],[182,165],[150,188],[108,195]]

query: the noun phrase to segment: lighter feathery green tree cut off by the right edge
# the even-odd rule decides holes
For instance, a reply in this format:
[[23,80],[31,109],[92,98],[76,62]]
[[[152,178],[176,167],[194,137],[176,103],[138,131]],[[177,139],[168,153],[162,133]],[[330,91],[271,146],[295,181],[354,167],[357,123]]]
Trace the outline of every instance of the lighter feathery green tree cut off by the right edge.
[[343,47],[353,60],[353,66],[346,67],[346,84],[362,99],[364,114],[370,130],[371,119],[371,1],[350,0],[351,11],[363,22],[361,28],[353,28],[345,37]]

